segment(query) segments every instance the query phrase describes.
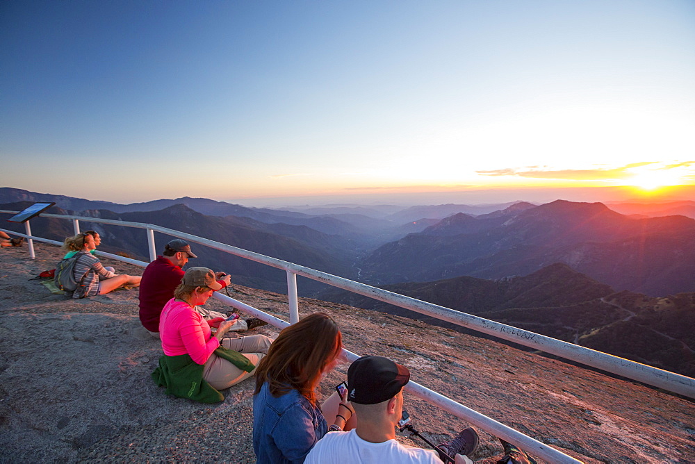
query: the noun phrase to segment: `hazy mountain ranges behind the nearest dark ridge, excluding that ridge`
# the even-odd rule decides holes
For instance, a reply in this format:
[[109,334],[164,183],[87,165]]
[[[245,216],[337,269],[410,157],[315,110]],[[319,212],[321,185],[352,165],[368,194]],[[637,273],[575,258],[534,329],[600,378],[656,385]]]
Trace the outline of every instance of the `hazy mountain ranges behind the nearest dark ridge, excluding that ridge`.
[[[152,222],[375,285],[455,276],[501,279],[565,263],[616,290],[652,296],[695,291],[695,219],[627,216],[600,203],[272,210],[190,197],[120,205],[0,188],[0,202],[17,201],[56,201],[63,210],[81,215]],[[651,205],[656,208],[651,210],[643,205],[641,212],[687,209],[693,203]],[[637,210],[635,204],[623,206]],[[55,230],[70,229],[63,224]],[[108,233],[105,245],[147,256],[144,243],[135,240],[139,231]],[[213,258],[217,252],[211,253]],[[247,285],[284,288],[284,274],[265,266],[261,271],[258,265],[227,264],[222,258],[213,263],[255,279]]]

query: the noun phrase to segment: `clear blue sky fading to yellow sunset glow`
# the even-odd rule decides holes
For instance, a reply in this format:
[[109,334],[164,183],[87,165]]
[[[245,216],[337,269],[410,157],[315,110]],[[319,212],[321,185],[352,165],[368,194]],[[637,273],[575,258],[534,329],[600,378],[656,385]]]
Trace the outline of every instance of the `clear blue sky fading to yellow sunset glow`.
[[691,0],[0,2],[0,187],[658,197],[694,134]]

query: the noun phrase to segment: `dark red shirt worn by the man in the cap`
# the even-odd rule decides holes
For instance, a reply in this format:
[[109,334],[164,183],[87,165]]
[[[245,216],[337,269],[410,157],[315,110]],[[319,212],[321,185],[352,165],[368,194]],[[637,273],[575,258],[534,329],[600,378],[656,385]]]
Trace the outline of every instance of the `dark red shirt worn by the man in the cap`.
[[[183,274],[183,269],[165,256],[157,256],[145,267],[140,280],[140,322],[145,329],[159,331],[159,315],[167,301],[174,297],[174,290],[181,283]],[[224,281],[218,283],[227,286]]]

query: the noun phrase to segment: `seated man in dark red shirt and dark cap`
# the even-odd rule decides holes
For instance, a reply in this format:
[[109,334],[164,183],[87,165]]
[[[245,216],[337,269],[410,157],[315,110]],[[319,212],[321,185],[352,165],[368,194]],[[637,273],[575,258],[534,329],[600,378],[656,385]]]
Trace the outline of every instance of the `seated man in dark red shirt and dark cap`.
[[[156,260],[149,263],[142,272],[140,281],[140,322],[149,333],[159,338],[159,315],[174,296],[174,289],[181,283],[183,277],[183,266],[188,263],[188,258],[197,258],[190,245],[185,240],[177,238],[167,243],[161,255]],[[228,275],[224,272],[216,272],[215,279],[220,285],[220,289],[226,287],[231,282]],[[227,315],[216,311],[207,310],[201,306],[196,306],[197,313],[202,315],[211,326],[216,327],[220,322],[227,319]],[[255,327],[263,326],[266,322],[255,317],[247,320],[236,320],[227,331],[242,332]]]

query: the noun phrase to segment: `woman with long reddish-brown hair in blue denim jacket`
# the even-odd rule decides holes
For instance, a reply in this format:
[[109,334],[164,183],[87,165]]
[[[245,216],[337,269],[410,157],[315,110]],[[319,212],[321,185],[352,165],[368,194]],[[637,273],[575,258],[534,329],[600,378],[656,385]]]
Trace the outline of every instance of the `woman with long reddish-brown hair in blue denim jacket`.
[[357,422],[347,400],[336,393],[318,404],[322,374],[338,363],[341,331],[325,313],[304,317],[283,329],[256,367],[254,451],[257,464],[303,463],[329,430],[350,430]]

